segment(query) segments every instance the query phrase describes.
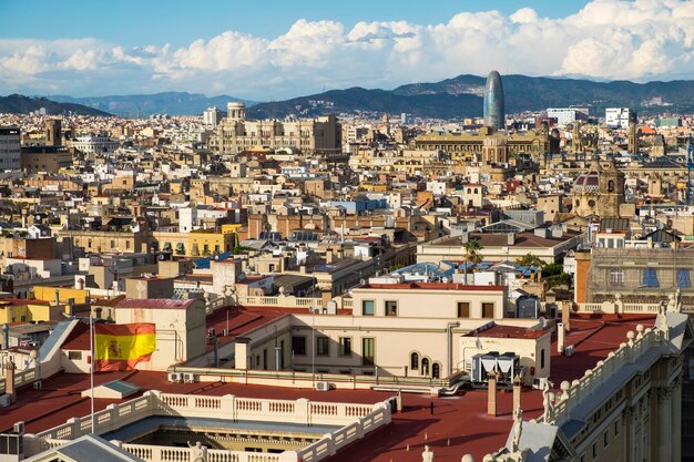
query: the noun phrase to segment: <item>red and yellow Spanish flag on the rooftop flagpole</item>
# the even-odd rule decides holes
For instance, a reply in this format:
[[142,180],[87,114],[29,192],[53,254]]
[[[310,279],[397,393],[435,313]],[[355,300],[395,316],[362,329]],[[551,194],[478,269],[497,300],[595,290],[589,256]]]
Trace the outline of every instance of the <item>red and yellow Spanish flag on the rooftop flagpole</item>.
[[98,324],[94,326],[94,370],[133,370],[149,361],[156,348],[154,324]]

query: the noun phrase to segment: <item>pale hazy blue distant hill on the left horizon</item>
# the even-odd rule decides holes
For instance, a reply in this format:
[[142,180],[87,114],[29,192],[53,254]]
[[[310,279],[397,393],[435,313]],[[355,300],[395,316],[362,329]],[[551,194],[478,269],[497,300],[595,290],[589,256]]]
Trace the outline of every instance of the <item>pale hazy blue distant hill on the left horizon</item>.
[[[234,96],[205,96],[201,93],[165,92],[154,94],[129,94],[113,96],[72,97],[65,95],[51,96],[55,101],[83,104],[101,111],[108,111],[125,117],[146,117],[152,114],[196,115],[211,106],[226,111],[226,103],[244,101]],[[252,101],[245,101],[247,105]]]

